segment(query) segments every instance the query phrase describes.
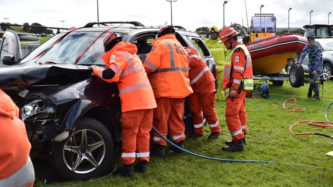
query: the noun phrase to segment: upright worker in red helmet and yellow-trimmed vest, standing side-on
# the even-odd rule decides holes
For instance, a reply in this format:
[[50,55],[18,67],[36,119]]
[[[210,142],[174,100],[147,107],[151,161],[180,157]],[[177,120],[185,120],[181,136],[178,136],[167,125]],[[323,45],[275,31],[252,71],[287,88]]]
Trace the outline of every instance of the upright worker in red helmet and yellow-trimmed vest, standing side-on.
[[220,31],[220,42],[228,50],[224,64],[223,89],[226,99],[225,119],[232,135],[232,141],[226,141],[223,151],[243,151],[244,133],[247,131],[245,97],[252,95],[253,73],[251,55],[246,46],[237,40],[238,32],[232,27]]

